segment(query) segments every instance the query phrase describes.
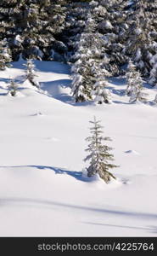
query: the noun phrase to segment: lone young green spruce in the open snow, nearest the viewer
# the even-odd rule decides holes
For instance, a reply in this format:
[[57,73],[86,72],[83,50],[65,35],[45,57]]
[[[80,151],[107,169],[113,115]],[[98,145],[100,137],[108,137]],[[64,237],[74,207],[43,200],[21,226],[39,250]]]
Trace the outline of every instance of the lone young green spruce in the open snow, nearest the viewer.
[[103,126],[100,125],[100,121],[97,121],[94,117],[93,121],[90,121],[93,127],[90,128],[91,136],[87,137],[88,148],[86,149],[89,154],[85,158],[85,161],[90,160],[90,165],[87,167],[87,176],[93,177],[98,174],[99,177],[104,179],[105,183],[109,183],[115,176],[109,172],[110,169],[118,167],[109,163],[109,160],[114,160],[114,155],[110,154],[107,145],[104,145],[104,141],[111,141],[109,137],[102,137]]

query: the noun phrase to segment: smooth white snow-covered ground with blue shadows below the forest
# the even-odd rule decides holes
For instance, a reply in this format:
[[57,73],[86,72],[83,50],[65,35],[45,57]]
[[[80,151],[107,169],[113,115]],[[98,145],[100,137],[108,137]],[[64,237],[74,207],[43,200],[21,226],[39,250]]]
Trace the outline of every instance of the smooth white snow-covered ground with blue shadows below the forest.
[[[124,79],[110,79],[112,104],[76,104],[70,68],[35,63],[42,90],[24,83],[22,61],[0,73],[0,236],[156,236],[157,107],[129,104]],[[93,115],[120,165],[108,185],[81,173]]]

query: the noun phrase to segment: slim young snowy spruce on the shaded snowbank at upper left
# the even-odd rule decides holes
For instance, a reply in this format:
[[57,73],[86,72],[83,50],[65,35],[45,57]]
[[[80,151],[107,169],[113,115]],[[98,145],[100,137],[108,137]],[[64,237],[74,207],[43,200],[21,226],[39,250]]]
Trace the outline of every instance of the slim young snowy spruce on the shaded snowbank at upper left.
[[37,77],[35,72],[35,65],[31,59],[28,59],[26,64],[23,64],[26,67],[26,79],[30,81],[30,83],[37,88],[39,88],[39,83],[35,80]]

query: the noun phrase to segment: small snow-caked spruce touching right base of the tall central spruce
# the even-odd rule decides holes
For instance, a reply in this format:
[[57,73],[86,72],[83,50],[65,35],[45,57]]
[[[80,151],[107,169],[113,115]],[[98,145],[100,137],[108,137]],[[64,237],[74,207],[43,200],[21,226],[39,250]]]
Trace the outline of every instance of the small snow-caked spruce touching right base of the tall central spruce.
[[107,82],[105,79],[100,79],[93,85],[92,95],[95,96],[94,102],[97,102],[98,104],[112,102],[110,91],[106,86]]

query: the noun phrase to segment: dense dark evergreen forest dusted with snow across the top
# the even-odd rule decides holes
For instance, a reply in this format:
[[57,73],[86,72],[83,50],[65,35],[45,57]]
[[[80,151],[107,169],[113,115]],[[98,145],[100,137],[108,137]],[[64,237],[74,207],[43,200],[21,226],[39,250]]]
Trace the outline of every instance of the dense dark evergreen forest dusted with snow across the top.
[[20,56],[70,63],[76,102],[90,99],[96,82],[125,74],[129,61],[155,85],[156,16],[156,0],[3,0],[0,67]]

